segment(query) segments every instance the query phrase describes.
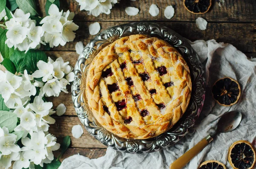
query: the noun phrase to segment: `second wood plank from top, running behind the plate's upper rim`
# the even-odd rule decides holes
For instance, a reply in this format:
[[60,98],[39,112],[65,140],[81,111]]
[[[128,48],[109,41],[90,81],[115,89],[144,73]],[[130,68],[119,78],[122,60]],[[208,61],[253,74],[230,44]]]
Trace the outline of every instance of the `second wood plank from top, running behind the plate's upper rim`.
[[[68,42],[64,46],[55,47],[52,50],[75,51],[77,42],[82,41],[84,44],[90,42],[90,39],[95,37],[88,33],[88,25],[90,23],[76,22],[79,25],[79,29],[76,31],[76,39],[73,42]],[[100,22],[101,31],[124,23],[127,22]],[[172,28],[191,41],[215,39],[217,42],[231,43],[240,51],[256,51],[256,24],[254,23],[208,23],[205,31],[199,30],[195,23],[159,22],[159,24]]]

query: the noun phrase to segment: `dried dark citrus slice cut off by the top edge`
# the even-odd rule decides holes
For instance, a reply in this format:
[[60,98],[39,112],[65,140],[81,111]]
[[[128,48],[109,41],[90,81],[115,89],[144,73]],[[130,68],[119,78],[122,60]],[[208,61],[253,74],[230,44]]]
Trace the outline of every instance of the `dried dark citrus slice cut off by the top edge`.
[[212,5],[211,0],[183,0],[186,10],[193,14],[204,14]]

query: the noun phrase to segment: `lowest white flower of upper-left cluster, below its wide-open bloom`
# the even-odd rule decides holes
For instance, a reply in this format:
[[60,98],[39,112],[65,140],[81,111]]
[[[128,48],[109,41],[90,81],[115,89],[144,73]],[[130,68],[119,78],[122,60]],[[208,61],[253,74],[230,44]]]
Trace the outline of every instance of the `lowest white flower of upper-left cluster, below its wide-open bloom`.
[[66,42],[62,39],[61,33],[54,33],[54,34],[45,33],[44,41],[46,43],[49,43],[51,48],[58,45],[64,46],[66,44]]

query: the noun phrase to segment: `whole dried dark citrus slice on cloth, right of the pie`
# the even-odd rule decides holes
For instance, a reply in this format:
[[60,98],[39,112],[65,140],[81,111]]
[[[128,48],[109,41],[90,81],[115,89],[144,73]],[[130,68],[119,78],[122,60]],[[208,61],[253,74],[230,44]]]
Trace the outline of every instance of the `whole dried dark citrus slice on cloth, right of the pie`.
[[223,106],[236,104],[240,94],[239,83],[229,77],[217,80],[212,87],[213,98]]

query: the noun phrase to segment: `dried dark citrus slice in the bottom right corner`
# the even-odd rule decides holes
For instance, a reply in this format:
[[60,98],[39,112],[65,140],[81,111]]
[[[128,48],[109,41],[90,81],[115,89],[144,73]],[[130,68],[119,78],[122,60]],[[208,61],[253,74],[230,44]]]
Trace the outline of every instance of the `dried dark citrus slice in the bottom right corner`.
[[255,150],[248,141],[236,141],[230,146],[228,161],[233,169],[253,169],[256,161]]

